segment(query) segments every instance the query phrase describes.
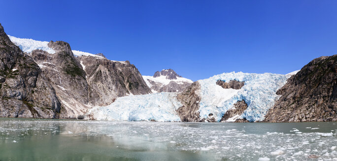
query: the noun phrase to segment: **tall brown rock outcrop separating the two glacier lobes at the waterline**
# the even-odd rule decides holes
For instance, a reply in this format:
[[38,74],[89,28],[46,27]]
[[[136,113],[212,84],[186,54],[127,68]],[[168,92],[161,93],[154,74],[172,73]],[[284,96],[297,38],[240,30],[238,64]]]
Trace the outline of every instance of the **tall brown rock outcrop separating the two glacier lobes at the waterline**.
[[199,115],[199,102],[201,98],[198,95],[200,90],[200,83],[198,81],[193,82],[188,86],[184,92],[178,94],[177,98],[183,105],[176,111],[183,122],[201,122]]

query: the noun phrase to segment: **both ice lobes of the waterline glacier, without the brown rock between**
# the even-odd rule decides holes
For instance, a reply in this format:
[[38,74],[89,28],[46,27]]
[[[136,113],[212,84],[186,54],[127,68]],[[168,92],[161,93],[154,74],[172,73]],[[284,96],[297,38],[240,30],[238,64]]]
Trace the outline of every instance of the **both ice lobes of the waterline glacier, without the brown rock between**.
[[[219,122],[237,101],[245,100],[248,107],[241,115],[236,116],[236,119],[244,118],[250,122],[262,121],[268,109],[280,97],[276,95],[276,91],[287,82],[289,77],[271,73],[231,72],[198,80],[201,84],[201,89],[197,90],[197,94],[201,97],[200,117],[207,118],[208,114],[212,113]],[[244,85],[241,89],[224,89],[216,84],[217,80],[244,81]],[[87,115],[97,120],[180,121],[176,109],[182,104],[177,100],[177,94],[163,92],[120,97],[109,106],[90,109]]]

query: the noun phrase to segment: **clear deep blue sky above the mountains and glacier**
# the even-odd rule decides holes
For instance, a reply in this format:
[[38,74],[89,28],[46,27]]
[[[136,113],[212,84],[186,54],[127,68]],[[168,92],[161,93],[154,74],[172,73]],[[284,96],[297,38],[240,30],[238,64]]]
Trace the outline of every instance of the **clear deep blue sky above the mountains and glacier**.
[[286,74],[337,54],[337,0],[91,1],[4,0],[0,23],[12,36],[130,60],[142,75],[172,68],[192,80]]

